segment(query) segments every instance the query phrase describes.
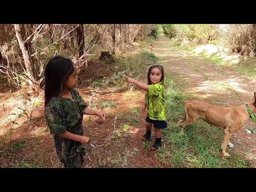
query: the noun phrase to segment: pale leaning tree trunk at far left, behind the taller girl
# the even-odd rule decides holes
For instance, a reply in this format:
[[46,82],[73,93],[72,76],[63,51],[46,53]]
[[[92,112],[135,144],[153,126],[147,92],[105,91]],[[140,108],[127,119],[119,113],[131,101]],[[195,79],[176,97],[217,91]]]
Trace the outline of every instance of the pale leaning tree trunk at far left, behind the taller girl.
[[29,83],[30,87],[32,88],[33,87],[33,82],[35,82],[35,78],[34,78],[33,70],[32,70],[31,56],[29,54],[29,51],[26,49],[25,42],[24,42],[23,37],[22,37],[22,26],[21,26],[21,24],[14,24],[14,29],[15,29],[15,33],[16,33],[16,38],[18,40],[20,49],[22,51],[22,56],[23,56],[23,59],[24,59],[24,63],[25,63],[25,66],[26,66],[26,73],[27,73],[28,78],[29,78],[28,83]]

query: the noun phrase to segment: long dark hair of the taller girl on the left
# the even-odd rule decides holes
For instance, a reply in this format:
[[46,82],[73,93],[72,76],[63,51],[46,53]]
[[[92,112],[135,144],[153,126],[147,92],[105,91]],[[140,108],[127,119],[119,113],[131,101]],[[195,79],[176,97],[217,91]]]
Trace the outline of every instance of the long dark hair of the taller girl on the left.
[[44,105],[64,89],[64,80],[74,72],[74,63],[62,56],[55,56],[47,63],[44,78]]

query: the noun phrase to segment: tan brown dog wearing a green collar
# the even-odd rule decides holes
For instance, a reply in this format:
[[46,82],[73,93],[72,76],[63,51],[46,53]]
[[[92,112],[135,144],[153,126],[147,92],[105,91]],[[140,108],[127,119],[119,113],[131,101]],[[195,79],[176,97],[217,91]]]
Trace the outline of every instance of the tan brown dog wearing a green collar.
[[[256,113],[256,92],[252,101],[246,102],[252,112]],[[227,145],[234,146],[229,142],[232,133],[242,127],[244,122],[250,118],[244,105],[236,107],[221,107],[201,101],[188,101],[184,108],[184,115],[179,119],[178,125],[184,133],[184,127],[193,124],[198,118],[212,126],[224,128],[224,138],[222,140],[222,154],[229,156],[226,152]]]

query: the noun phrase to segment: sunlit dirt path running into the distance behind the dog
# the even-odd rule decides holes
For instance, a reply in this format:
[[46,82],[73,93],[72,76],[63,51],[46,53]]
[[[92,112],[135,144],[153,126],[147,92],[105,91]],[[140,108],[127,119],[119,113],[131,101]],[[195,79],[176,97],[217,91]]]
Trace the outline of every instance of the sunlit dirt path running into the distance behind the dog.
[[[223,106],[236,106],[241,102],[234,89],[243,101],[251,100],[256,90],[256,81],[242,76],[229,67],[220,67],[170,45],[170,39],[160,35],[152,46],[152,52],[162,60],[165,73],[170,73],[178,87],[189,99],[197,99]],[[185,86],[184,86],[185,85]],[[245,129],[255,129],[252,120],[236,132],[231,141],[234,145],[243,146],[245,158],[256,164],[256,134],[247,134]]]

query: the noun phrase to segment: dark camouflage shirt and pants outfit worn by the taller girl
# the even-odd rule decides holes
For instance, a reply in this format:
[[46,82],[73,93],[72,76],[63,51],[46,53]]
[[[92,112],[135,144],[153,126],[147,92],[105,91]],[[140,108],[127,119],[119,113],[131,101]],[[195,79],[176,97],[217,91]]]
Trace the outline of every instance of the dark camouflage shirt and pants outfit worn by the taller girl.
[[82,120],[87,104],[75,89],[69,89],[74,100],[54,97],[47,104],[44,112],[50,133],[54,134],[56,152],[65,167],[80,167],[85,155],[82,144],[68,140],[56,134],[68,131],[83,135]]

